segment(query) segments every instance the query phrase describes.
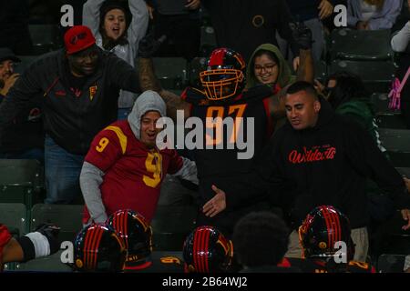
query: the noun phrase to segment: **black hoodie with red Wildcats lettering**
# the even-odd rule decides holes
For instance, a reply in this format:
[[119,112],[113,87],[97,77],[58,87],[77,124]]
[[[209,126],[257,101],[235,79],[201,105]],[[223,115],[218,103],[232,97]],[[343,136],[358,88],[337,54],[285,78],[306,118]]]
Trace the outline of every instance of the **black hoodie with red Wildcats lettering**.
[[304,130],[283,125],[256,167],[256,176],[269,188],[272,201],[290,214],[294,227],[320,205],[339,208],[353,228],[366,226],[366,177],[390,194],[398,209],[410,206],[402,177],[372,137],[361,125],[335,115],[326,101],[321,104],[317,125]]

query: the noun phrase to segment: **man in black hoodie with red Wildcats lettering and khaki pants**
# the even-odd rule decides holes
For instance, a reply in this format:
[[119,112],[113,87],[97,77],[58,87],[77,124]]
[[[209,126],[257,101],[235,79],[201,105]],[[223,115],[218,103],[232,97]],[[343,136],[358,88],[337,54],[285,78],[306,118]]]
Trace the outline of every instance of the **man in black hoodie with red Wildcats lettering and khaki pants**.
[[366,178],[392,197],[406,221],[403,229],[410,228],[405,182],[361,125],[334,114],[332,106],[307,82],[298,81],[288,88],[285,106],[288,123],[265,147],[249,177],[251,184],[242,187],[253,193],[268,189],[272,204],[282,206],[287,214],[294,230],[285,256],[302,256],[296,229],[311,209],[327,204],[349,218],[354,260],[365,261],[370,219]]

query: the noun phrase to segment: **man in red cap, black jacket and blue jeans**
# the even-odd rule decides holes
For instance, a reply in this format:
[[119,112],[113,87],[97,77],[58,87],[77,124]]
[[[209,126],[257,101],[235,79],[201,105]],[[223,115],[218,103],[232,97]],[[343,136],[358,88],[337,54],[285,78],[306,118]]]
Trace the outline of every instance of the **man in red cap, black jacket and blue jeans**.
[[64,42],[30,65],[0,105],[2,129],[36,93],[44,95],[49,204],[70,203],[80,193],[84,156],[94,136],[117,120],[119,89],[141,91],[136,70],[98,48],[87,26],[71,27]]

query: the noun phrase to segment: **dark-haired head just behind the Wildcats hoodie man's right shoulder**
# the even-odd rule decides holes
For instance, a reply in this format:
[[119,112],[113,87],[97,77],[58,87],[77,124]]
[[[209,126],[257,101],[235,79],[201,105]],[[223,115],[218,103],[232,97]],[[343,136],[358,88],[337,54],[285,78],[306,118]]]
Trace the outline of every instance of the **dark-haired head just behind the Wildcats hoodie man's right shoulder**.
[[329,76],[327,100],[336,109],[343,103],[358,98],[369,98],[362,78],[350,72],[336,72]]

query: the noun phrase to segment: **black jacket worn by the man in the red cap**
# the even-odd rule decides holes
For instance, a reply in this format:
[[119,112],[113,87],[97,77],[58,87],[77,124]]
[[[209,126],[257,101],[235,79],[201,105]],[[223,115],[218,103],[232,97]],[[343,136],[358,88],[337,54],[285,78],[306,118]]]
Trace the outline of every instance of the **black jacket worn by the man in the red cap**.
[[70,90],[64,49],[30,65],[0,105],[0,128],[40,93],[46,134],[69,153],[87,154],[94,136],[117,120],[119,89],[140,91],[135,68],[114,54],[99,54],[97,72],[87,78],[78,97]]

